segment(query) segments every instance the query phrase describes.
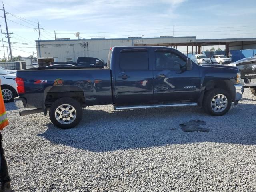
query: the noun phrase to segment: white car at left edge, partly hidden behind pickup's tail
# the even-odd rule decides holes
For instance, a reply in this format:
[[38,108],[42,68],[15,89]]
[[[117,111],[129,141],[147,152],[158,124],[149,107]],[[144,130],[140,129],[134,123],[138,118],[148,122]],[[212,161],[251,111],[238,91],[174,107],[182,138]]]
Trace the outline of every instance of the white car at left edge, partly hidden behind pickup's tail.
[[1,90],[4,102],[12,102],[14,97],[18,96],[15,78],[16,73],[0,69]]

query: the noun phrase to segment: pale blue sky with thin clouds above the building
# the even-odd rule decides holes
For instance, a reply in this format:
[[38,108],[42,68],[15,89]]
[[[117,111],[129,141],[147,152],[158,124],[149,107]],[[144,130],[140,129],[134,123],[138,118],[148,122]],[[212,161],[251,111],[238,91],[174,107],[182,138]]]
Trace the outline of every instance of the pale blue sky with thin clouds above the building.
[[76,38],[76,32],[82,38],[158,37],[172,35],[173,25],[174,36],[256,37],[256,0],[4,0],[4,6],[13,56],[36,52],[37,19],[41,40],[53,40],[54,30],[57,38]]

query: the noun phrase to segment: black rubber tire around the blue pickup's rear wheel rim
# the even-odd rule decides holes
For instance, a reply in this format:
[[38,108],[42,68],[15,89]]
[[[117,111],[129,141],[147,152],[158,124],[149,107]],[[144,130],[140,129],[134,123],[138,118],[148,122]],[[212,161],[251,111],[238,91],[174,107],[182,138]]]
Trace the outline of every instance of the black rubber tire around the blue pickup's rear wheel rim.
[[[70,105],[71,107],[69,109],[71,109],[71,110],[74,108],[75,109],[74,110],[75,113],[72,112],[73,114],[71,114],[71,115],[76,114],[76,117],[73,118],[73,119],[67,120],[67,118],[71,118],[71,117],[70,117],[70,115],[68,115],[68,117],[64,117],[64,115],[63,115],[64,112],[62,112],[62,110],[59,111],[60,110],[59,107],[62,106],[62,105],[64,105],[64,106]],[[62,115],[60,115],[58,112],[56,112],[57,109],[59,109],[58,111],[60,113],[62,113]],[[69,112],[68,111],[68,107],[66,107],[64,109],[65,109],[65,113]],[[58,116],[58,115],[59,115],[59,117],[62,116],[64,118],[60,118],[60,120],[57,120],[56,116]],[[83,116],[83,109],[82,109],[81,104],[78,101],[76,101],[76,100],[74,100],[72,98],[69,98],[69,97],[63,97],[63,98],[60,98],[60,99],[56,100],[52,104],[52,106],[50,108],[50,111],[49,111],[49,116],[50,116],[51,122],[55,126],[57,126],[58,128],[69,129],[69,128],[75,127],[81,121],[82,116]],[[66,118],[66,120],[65,120],[65,118]],[[65,121],[68,121],[68,122],[70,121],[70,123],[69,124],[64,124],[64,123],[67,123]]]

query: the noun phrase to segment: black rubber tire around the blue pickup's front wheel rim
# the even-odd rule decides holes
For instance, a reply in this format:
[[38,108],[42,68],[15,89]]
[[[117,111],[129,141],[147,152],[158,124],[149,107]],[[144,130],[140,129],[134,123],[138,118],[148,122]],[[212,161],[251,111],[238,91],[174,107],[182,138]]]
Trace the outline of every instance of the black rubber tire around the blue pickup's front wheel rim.
[[[222,94],[222,95],[226,96],[226,98],[227,98],[226,108],[221,112],[216,112],[212,108],[212,100],[218,94]],[[215,89],[209,90],[204,95],[204,100],[203,100],[204,111],[212,116],[222,116],[222,115],[226,114],[228,112],[228,110],[230,109],[231,103],[232,103],[231,100],[232,99],[231,99],[230,94],[224,89],[215,88]]]

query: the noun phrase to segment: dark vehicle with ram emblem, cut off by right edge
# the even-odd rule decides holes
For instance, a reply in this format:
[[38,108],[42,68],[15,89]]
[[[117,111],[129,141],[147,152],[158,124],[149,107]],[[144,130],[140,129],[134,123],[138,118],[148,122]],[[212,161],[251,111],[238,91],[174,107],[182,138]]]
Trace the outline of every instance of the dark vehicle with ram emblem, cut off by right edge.
[[243,58],[232,64],[241,72],[241,83],[245,88],[250,88],[256,96],[256,57]]

